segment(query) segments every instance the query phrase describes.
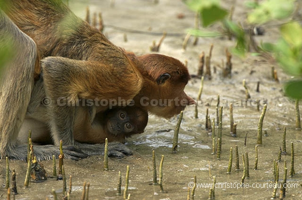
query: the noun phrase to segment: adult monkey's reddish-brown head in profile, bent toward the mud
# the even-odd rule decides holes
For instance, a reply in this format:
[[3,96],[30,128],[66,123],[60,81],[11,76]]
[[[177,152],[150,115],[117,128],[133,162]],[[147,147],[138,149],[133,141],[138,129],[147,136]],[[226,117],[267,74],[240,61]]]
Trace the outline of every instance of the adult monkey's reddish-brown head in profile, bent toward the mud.
[[173,117],[195,101],[185,92],[190,79],[188,68],[179,60],[161,55],[146,54],[138,56],[141,73],[146,81],[141,96],[148,97],[143,102],[151,113],[165,118]]

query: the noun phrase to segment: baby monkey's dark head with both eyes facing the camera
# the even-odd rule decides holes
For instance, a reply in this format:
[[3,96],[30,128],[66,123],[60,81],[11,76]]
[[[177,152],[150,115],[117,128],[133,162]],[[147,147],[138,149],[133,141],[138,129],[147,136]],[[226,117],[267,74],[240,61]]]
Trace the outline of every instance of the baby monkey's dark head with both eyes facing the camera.
[[113,108],[106,115],[107,130],[113,135],[143,133],[148,123],[148,113],[137,107]]

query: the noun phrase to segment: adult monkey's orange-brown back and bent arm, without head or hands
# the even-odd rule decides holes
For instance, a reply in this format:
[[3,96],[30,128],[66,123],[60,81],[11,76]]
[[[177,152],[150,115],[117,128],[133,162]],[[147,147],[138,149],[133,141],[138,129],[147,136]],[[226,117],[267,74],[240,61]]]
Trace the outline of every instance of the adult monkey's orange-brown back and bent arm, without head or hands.
[[52,100],[49,124],[56,145],[61,139],[74,144],[75,108],[57,106],[59,98],[66,103],[78,98],[128,100],[140,91],[141,74],[125,51],[60,0],[8,0],[3,9],[46,57],[41,67],[46,95]]

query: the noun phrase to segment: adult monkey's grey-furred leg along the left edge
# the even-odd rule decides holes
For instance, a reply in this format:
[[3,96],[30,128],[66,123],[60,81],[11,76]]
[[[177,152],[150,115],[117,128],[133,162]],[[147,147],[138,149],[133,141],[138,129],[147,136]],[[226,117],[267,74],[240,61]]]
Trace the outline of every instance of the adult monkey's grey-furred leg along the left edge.
[[22,154],[17,141],[34,86],[35,42],[0,10],[0,154]]

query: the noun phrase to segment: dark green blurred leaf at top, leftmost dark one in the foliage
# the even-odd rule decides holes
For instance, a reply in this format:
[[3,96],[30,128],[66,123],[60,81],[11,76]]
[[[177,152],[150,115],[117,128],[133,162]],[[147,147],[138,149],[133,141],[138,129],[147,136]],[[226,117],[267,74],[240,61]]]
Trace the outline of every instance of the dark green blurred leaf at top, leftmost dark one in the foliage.
[[221,8],[219,5],[212,4],[209,7],[203,7],[200,11],[201,20],[204,27],[222,20],[227,16],[227,10]]

